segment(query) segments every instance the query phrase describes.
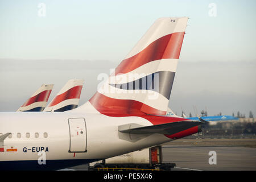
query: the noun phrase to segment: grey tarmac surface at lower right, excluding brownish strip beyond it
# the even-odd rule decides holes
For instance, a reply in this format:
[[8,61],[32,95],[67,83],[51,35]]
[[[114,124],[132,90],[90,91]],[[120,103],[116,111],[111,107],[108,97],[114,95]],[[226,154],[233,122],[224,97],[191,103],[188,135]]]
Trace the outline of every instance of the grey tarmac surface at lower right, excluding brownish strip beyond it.
[[[209,164],[209,151],[216,151],[217,164]],[[163,162],[200,170],[256,170],[256,148],[235,146],[164,146]],[[179,168],[176,168],[179,169]]]

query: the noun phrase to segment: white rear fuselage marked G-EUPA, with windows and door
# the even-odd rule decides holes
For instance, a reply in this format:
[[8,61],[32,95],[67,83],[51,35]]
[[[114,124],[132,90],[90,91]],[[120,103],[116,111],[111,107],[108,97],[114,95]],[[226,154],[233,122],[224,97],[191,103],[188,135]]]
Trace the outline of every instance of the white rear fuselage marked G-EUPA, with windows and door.
[[[152,134],[137,142],[119,138],[118,126],[128,123],[152,125],[141,117],[108,117],[100,113],[0,113],[0,133],[12,135],[4,140],[0,168],[11,168],[6,165],[14,161],[38,164],[39,151],[45,152],[46,163],[80,159],[92,162],[171,140],[162,134]],[[63,167],[74,165],[66,163]],[[63,167],[57,165],[53,169]],[[47,169],[52,169],[50,164]]]

